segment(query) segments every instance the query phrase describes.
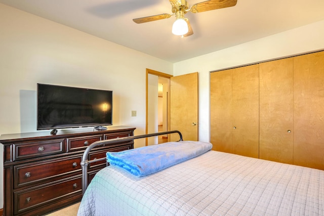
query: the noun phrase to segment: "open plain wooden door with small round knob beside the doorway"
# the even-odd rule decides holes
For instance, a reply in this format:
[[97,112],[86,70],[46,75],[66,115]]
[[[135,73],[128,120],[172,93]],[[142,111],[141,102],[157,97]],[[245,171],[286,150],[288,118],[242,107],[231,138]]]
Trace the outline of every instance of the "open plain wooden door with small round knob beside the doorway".
[[[170,78],[170,130],[183,140],[198,141],[198,72]],[[171,141],[179,135],[172,134]]]

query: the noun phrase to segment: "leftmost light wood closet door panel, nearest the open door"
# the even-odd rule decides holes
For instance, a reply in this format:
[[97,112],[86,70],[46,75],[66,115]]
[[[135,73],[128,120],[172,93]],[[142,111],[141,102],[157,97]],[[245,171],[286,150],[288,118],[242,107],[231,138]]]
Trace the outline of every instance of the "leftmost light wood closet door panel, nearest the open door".
[[232,70],[211,73],[211,143],[232,153]]

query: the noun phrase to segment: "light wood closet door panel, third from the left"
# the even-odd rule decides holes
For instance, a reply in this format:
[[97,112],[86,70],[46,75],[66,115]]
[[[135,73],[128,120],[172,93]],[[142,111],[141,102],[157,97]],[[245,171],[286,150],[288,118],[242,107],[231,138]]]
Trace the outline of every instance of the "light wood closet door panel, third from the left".
[[294,162],[294,59],[260,63],[259,158]]

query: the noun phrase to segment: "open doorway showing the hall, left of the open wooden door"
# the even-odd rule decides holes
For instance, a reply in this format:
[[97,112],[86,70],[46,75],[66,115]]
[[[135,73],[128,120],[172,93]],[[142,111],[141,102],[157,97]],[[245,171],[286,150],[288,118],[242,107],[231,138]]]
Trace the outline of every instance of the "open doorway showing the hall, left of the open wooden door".
[[[146,134],[170,130],[170,77],[170,74],[146,69]],[[146,138],[146,145],[168,140],[168,135]]]

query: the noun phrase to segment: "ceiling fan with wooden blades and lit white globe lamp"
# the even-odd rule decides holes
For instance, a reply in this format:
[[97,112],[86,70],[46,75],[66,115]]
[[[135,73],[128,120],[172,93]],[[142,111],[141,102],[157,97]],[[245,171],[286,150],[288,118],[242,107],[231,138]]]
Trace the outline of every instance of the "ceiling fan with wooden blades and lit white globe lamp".
[[188,18],[185,18],[184,15],[187,12],[192,13],[201,13],[205,11],[211,11],[221,8],[228,8],[233,7],[236,5],[237,0],[209,0],[206,2],[201,2],[192,5],[189,8],[189,5],[186,0],[169,0],[172,6],[172,14],[159,14],[149,17],[142,17],[133,19],[135,23],[145,23],[151,22],[161,19],[167,19],[171,16],[176,16],[176,21],[173,23],[172,26],[172,33],[176,35],[180,35],[183,37],[190,36],[193,34],[193,30],[189,23]]

